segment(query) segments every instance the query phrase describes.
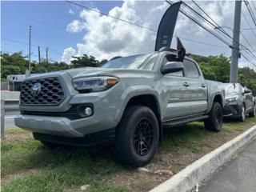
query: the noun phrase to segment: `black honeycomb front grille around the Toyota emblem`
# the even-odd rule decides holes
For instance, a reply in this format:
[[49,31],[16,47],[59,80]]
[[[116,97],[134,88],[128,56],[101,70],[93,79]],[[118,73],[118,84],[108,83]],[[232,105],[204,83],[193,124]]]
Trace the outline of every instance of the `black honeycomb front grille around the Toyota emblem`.
[[[41,85],[38,94],[32,93],[34,84]],[[58,78],[39,78],[22,82],[20,105],[50,105],[56,106],[64,99],[64,90]]]

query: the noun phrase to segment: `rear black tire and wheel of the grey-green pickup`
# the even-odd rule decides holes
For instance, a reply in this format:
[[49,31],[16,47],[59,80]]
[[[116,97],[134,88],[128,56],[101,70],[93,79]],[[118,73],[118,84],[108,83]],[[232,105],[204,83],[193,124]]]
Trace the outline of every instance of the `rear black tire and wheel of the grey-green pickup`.
[[209,118],[204,121],[206,130],[219,132],[222,130],[222,121],[222,106],[219,102],[214,102],[209,112]]

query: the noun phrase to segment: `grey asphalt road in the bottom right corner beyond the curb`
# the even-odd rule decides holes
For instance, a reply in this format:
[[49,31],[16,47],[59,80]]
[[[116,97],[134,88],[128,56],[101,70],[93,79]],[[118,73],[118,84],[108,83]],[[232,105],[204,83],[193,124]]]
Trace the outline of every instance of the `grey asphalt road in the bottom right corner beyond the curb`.
[[255,192],[256,191],[256,138],[249,146],[222,166],[199,192]]

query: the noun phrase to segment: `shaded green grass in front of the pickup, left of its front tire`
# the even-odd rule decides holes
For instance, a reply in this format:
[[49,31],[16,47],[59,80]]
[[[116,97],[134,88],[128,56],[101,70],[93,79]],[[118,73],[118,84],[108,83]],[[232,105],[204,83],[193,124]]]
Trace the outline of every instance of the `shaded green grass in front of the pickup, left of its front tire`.
[[34,139],[2,145],[2,176],[31,174],[11,179],[3,191],[63,191],[72,186],[90,184],[89,191],[122,191],[122,187],[103,185],[102,180],[120,169],[108,150],[85,150],[60,147],[49,150]]

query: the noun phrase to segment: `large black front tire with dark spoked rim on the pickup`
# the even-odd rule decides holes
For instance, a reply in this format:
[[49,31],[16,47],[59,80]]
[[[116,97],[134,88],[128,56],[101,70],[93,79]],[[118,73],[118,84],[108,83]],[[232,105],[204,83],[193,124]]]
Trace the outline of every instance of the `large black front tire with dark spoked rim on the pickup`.
[[158,119],[154,112],[146,106],[130,106],[117,127],[114,155],[124,165],[145,166],[154,157],[158,141]]

